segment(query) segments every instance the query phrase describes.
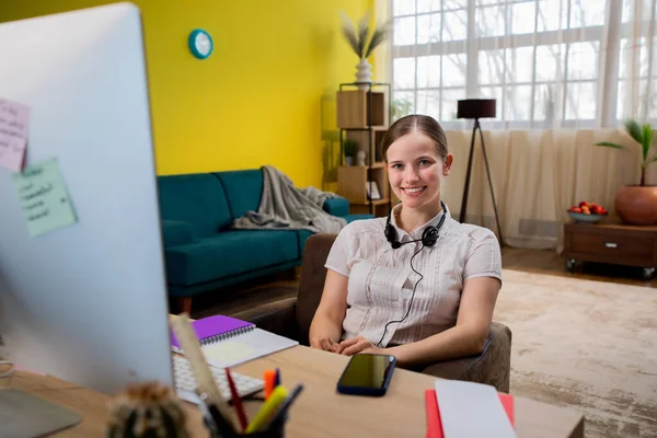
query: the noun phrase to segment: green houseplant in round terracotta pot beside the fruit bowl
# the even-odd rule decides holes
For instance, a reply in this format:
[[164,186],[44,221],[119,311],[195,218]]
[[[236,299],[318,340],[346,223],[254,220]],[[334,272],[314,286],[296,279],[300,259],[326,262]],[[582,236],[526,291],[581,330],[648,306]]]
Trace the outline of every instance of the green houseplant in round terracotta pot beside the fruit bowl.
[[[623,185],[616,192],[614,208],[621,220],[630,224],[657,224],[657,186],[646,185],[646,169],[657,162],[657,152],[650,152],[655,129],[649,124],[641,126],[635,119],[623,120],[625,131],[641,146],[641,180],[638,185]],[[610,141],[600,141],[596,146],[624,149],[626,147]]]

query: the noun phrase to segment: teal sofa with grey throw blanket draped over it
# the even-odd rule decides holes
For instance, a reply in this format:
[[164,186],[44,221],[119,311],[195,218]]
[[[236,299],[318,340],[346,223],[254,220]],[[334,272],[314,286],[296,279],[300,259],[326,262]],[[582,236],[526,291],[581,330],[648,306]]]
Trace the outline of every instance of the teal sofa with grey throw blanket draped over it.
[[[233,219],[257,211],[261,169],[158,177],[169,295],[189,311],[192,297],[301,265],[307,230],[232,230]],[[323,209],[347,222],[347,199]]]

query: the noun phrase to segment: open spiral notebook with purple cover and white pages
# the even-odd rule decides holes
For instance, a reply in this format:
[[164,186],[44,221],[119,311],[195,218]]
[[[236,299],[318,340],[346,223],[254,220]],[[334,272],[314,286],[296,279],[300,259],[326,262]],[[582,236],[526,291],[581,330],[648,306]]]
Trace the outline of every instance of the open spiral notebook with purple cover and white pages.
[[[208,364],[233,367],[272,353],[299,345],[297,341],[257,328],[255,324],[235,318],[215,315],[192,322]],[[171,347],[183,353],[171,332]]]

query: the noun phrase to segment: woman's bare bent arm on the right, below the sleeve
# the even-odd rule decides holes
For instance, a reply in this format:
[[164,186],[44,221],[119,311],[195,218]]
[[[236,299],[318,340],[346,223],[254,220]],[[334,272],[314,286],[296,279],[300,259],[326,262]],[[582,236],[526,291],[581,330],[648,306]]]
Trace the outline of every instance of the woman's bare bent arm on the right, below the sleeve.
[[385,348],[385,351],[394,355],[400,366],[433,364],[481,354],[500,287],[499,280],[493,277],[465,280],[456,326],[422,341]]

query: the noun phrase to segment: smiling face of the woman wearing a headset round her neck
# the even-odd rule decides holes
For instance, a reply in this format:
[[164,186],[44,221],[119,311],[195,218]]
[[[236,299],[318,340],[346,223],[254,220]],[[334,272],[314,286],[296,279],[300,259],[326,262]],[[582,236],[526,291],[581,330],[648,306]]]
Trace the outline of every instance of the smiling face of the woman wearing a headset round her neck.
[[439,206],[440,185],[449,173],[451,154],[443,162],[434,140],[414,130],[390,145],[387,159],[390,186],[405,207]]

